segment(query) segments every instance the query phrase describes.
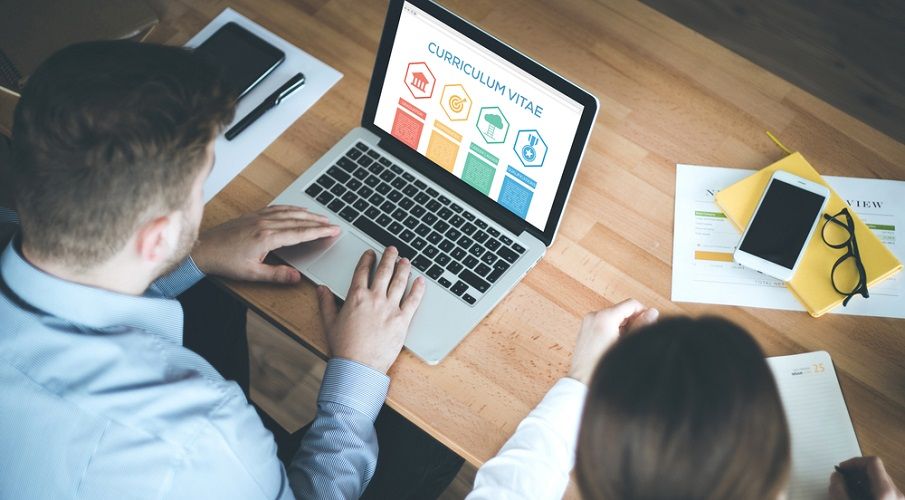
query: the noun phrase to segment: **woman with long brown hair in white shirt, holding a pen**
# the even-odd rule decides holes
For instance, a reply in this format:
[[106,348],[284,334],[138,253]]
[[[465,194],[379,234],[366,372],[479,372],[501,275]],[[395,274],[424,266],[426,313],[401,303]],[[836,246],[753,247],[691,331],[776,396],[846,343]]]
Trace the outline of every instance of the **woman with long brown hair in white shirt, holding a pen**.
[[[785,498],[790,437],[760,347],[725,319],[657,317],[635,300],[586,316],[568,377],[481,467],[469,500],[561,498],[576,442],[585,499]],[[905,498],[876,457],[841,467],[867,477],[870,498]],[[829,479],[830,498],[850,500]]]

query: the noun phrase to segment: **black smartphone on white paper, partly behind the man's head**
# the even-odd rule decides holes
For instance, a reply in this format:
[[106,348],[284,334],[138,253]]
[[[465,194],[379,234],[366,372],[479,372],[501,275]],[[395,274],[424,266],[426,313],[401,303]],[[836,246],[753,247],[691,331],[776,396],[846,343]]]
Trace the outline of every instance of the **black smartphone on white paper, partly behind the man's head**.
[[282,50],[236,23],[226,23],[196,52],[223,67],[227,84],[241,99],[286,59]]

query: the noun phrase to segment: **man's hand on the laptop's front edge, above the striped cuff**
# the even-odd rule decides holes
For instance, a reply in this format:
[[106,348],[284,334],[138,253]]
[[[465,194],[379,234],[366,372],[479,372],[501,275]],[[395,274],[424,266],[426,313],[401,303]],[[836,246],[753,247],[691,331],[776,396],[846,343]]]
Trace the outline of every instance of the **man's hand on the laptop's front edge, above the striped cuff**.
[[408,259],[397,263],[397,255],[394,247],[387,247],[369,284],[368,275],[377,256],[371,250],[365,252],[339,312],[330,290],[317,288],[331,356],[357,361],[381,373],[386,373],[396,361],[412,316],[424,296],[424,278],[420,276],[405,292],[411,264]]

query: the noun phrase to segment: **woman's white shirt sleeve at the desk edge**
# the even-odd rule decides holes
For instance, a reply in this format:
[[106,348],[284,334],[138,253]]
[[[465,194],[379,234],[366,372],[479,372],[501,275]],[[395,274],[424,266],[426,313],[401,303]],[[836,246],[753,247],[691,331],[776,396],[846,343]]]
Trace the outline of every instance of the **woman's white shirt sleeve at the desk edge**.
[[560,379],[475,477],[467,500],[560,499],[575,464],[587,387]]

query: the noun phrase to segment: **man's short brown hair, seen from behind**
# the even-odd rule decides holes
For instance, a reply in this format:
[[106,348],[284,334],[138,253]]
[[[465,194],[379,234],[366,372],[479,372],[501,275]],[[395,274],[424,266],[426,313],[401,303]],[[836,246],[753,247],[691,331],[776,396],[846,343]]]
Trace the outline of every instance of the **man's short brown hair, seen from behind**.
[[184,208],[234,111],[219,69],[185,49],[88,42],[50,56],[12,131],[29,251],[90,268],[152,217]]

